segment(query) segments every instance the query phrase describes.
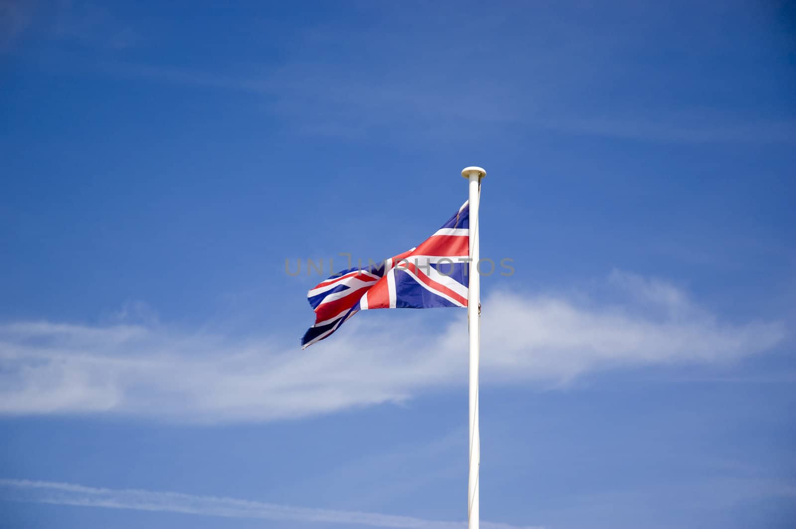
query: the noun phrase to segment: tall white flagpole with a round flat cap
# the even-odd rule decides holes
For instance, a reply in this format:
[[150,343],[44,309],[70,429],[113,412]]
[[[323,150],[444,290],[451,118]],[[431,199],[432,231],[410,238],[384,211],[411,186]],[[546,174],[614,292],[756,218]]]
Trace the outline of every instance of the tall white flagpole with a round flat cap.
[[481,466],[481,434],[478,431],[478,357],[481,344],[481,276],[478,274],[478,200],[481,167],[462,169],[462,177],[470,181],[470,286],[467,289],[467,326],[470,329],[470,479],[467,487],[467,527],[478,529],[478,469]]

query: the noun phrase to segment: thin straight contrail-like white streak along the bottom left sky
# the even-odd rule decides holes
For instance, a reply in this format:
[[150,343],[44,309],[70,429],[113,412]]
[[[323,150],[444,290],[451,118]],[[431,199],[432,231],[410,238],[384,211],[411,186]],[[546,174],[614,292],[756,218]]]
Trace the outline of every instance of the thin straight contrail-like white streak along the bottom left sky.
[[[225,518],[345,523],[367,527],[394,527],[396,529],[461,529],[466,527],[466,522],[441,522],[376,512],[290,507],[217,496],[193,496],[179,492],[94,488],[53,481],[0,479],[0,493],[4,499],[14,501],[136,511],[181,512]],[[485,529],[521,529],[506,523],[482,522],[481,525]]]

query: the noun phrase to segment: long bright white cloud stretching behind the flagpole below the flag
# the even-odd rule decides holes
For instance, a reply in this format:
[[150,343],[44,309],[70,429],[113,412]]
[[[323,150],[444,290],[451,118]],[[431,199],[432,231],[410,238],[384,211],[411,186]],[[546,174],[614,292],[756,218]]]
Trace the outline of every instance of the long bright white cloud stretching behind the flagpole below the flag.
[[[615,272],[608,285],[621,301],[490,295],[483,303],[485,383],[559,384],[608,368],[729,362],[785,336],[778,321],[723,323],[666,282]],[[0,414],[269,421],[464,384],[464,311],[443,329],[428,329],[418,314],[357,315],[303,352],[275,336],[189,333],[158,323],[8,323],[0,325]]]

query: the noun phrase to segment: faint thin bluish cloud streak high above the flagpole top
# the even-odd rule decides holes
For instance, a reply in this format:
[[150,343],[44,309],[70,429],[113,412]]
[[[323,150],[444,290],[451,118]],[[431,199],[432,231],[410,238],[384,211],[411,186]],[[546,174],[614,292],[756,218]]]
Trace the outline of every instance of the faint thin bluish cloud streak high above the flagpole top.
[[554,95],[551,88],[534,86],[534,99],[546,103],[531,103],[528,88],[518,88],[508,80],[451,86],[447,78],[431,71],[408,79],[385,79],[352,78],[318,64],[261,67],[260,76],[120,62],[104,62],[102,68],[115,76],[260,95],[267,113],[284,118],[293,130],[312,135],[358,138],[370,130],[401,123],[412,134],[443,137],[462,119],[497,130],[525,125],[545,132],[692,144],[790,143],[796,130],[796,122],[788,116],[751,117],[684,107],[667,107],[665,112],[611,109],[610,114],[599,115],[576,108],[572,101]]

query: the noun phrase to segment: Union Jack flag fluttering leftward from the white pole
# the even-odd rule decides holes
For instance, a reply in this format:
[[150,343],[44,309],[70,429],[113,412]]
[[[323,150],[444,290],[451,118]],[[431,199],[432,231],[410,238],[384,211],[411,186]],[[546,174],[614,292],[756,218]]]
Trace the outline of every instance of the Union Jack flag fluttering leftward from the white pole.
[[360,310],[466,307],[470,208],[465,202],[418,247],[377,265],[334,274],[307,293],[315,325],[302,348],[328,338]]

